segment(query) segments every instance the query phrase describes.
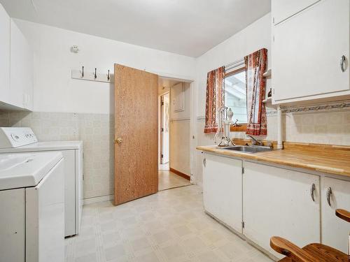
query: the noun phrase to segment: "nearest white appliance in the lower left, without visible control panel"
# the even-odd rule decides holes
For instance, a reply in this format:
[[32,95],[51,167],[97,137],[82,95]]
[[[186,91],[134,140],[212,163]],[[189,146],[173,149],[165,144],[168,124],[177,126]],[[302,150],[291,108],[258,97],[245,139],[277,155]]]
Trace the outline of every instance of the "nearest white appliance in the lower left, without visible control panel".
[[64,159],[0,155],[0,261],[64,261]]

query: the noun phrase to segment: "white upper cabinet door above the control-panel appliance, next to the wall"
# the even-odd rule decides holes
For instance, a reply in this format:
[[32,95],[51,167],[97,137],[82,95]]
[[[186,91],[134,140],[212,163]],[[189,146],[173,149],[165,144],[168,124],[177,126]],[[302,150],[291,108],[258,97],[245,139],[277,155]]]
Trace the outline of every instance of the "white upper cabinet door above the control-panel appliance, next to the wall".
[[17,24],[10,21],[10,102],[33,109],[33,51]]

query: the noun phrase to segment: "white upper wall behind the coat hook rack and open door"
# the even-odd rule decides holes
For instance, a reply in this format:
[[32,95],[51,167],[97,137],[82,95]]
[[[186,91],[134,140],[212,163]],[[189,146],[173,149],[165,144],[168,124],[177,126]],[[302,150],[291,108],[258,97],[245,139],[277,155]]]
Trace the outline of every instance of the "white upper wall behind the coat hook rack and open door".
[[[34,111],[113,112],[113,85],[72,80],[71,69],[113,72],[113,64],[176,78],[195,78],[195,59],[106,38],[15,20],[34,48]],[[78,54],[70,52],[78,45]],[[112,103],[111,103],[112,101]]]

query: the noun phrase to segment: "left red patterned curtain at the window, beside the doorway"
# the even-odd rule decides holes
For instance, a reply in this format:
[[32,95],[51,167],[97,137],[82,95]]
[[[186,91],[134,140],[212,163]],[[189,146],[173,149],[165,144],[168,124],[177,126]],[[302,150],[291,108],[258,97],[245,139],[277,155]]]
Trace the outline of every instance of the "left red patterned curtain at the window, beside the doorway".
[[204,133],[216,133],[218,130],[218,119],[216,119],[216,114],[218,108],[221,108],[221,105],[225,103],[225,90],[223,89],[224,75],[224,66],[210,71],[207,74]]

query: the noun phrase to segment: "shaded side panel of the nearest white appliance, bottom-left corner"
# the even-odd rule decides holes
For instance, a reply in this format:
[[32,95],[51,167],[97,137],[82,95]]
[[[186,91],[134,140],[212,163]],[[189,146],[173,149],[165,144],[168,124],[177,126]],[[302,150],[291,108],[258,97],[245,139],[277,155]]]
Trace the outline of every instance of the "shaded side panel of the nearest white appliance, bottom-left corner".
[[0,191],[0,261],[25,262],[25,189]]

